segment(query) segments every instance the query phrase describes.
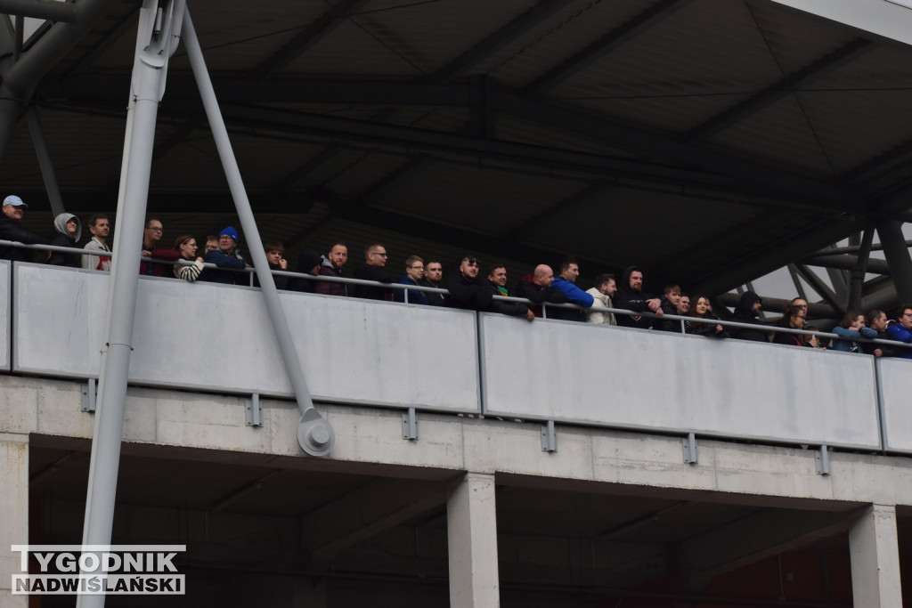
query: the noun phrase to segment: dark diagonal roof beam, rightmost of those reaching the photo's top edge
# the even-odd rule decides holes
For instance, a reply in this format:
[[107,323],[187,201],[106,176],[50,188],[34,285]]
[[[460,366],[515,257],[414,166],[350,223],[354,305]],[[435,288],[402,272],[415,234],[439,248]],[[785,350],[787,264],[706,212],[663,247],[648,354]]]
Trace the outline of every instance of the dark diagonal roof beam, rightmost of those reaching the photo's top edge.
[[545,72],[543,76],[536,78],[523,88],[521,94],[525,96],[541,95],[547,89],[554,87],[557,83],[573,76],[576,72],[605,57],[619,46],[624,45],[628,40],[639,36],[649,27],[654,26],[683,6],[688,5],[689,2],[691,0],[659,0],[624,25],[617,27],[613,32],[586,46],[575,56],[566,59],[557,67]]

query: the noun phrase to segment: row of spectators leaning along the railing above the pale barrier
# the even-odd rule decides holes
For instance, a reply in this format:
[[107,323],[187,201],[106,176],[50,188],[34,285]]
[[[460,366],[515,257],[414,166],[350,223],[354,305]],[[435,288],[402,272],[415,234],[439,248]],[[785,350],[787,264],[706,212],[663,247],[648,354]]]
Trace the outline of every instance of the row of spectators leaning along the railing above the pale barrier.
[[[78,217],[71,213],[57,215],[54,221],[55,233],[46,239],[20,226],[27,209],[28,205],[16,195],[5,198],[3,214],[0,216],[0,240],[69,248],[77,245],[82,235],[82,224]],[[91,237],[83,247],[85,253],[80,255],[51,251],[45,254],[45,262],[100,272],[109,271],[111,250],[108,244],[108,216],[91,216],[88,219],[88,232]],[[179,236],[171,248],[162,246],[163,236],[164,226],[161,221],[150,218],[143,229],[140,274],[159,277],[173,275],[188,282],[248,284],[248,278],[238,271],[248,268],[250,264],[238,248],[238,232],[232,226],[226,226],[218,235],[207,236],[202,255],[197,254],[199,247],[191,234]],[[265,242],[264,253],[271,271],[289,270],[282,243]],[[32,261],[32,255],[27,249],[0,246],[0,259],[28,262]],[[594,287],[583,291],[575,284],[580,276],[579,263],[574,258],[567,257],[557,267],[556,275],[551,266],[539,264],[532,273],[523,276],[511,292],[507,286],[507,268],[503,263],[493,263],[485,269],[486,272],[482,272],[482,261],[471,254],[461,256],[446,276],[443,264],[436,259],[425,260],[419,255],[409,255],[400,275],[388,269],[388,262],[386,246],[381,242],[372,242],[364,249],[364,261],[358,262],[352,273],[353,278],[366,283],[349,286],[338,281],[321,281],[319,277],[346,276],[343,269],[348,263],[348,247],[345,242],[338,241],[323,255],[313,251],[300,253],[297,273],[313,278],[276,273],[273,278],[276,288],[297,292],[449,306],[508,314],[528,321],[547,315],[564,321],[826,348],[816,335],[776,331],[817,331],[813,325],[806,324],[808,304],[803,298],[794,298],[782,310],[782,317],[770,325],[760,319],[761,297],[751,291],[744,292],[730,319],[740,325],[726,326],[713,314],[710,298],[706,295],[695,297],[691,309],[690,296],[683,293],[679,285],[667,285],[661,297],[645,292],[643,269],[637,266],[628,267],[619,283],[613,274],[601,274],[596,277]],[[259,284],[255,277],[253,284]],[[447,293],[417,288],[445,289]],[[515,296],[523,298],[525,302],[495,296]],[[545,312],[547,304],[576,306],[551,306]],[[605,308],[625,310],[632,314],[615,314],[603,310]],[[860,310],[849,311],[842,322],[834,327],[834,334],[838,337],[832,340],[830,348],[872,356],[912,358],[912,348],[894,348],[870,342],[871,339],[880,338],[912,344],[912,304],[900,305],[896,317],[896,321],[888,320],[886,313],[880,310],[870,311],[866,315]],[[713,321],[720,323],[712,323]]]

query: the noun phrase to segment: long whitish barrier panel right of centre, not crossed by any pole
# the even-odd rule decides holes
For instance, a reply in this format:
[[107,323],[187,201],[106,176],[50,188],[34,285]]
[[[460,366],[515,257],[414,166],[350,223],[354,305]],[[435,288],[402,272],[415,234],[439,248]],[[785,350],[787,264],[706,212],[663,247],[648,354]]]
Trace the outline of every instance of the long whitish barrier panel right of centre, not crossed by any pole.
[[872,357],[482,315],[485,412],[879,448]]

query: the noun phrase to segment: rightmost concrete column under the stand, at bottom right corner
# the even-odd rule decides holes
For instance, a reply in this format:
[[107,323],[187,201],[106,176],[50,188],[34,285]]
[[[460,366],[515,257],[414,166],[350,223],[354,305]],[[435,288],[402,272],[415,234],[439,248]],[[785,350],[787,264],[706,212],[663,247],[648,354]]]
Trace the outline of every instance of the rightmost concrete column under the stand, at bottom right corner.
[[856,606],[894,608],[903,605],[895,507],[871,505],[849,531],[849,553]]

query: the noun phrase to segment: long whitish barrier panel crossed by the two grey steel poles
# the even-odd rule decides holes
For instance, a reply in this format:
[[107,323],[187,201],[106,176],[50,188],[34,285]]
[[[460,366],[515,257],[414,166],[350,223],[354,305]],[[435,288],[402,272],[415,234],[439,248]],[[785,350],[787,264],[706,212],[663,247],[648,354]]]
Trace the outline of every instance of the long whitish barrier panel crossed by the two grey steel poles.
[[[16,264],[16,371],[98,376],[109,276]],[[281,294],[319,400],[481,411],[475,314]],[[263,294],[142,277],[130,381],[291,395]]]

